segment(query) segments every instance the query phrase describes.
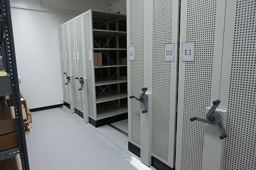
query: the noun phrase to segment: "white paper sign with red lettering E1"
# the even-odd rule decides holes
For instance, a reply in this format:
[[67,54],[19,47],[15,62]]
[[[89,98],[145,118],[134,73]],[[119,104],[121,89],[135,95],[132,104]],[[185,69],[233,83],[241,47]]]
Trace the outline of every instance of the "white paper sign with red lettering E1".
[[194,61],[195,59],[195,42],[182,43],[182,61]]

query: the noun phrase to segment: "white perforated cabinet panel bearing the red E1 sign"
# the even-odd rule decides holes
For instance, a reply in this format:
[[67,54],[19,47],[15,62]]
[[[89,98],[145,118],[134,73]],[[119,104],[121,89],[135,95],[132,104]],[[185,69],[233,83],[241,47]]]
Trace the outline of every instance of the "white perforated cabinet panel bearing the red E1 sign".
[[[202,170],[204,123],[190,118],[219,99],[224,16],[225,0],[181,1],[177,170]],[[182,61],[183,42],[195,42],[194,61]]]

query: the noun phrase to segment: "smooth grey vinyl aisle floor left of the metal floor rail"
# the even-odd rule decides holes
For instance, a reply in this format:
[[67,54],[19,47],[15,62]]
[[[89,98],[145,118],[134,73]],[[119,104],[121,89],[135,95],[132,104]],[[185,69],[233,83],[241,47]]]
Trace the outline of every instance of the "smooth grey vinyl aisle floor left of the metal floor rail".
[[26,134],[31,170],[135,170],[60,108],[32,113]]

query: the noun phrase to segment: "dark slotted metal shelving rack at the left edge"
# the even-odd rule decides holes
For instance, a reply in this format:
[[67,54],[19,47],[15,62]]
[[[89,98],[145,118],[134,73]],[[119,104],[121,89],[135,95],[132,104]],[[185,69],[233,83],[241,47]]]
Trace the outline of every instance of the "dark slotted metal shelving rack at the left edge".
[[[0,52],[3,57],[3,66],[8,73],[7,76],[0,77],[0,97],[9,95],[10,105],[15,108],[16,128],[19,147],[0,151],[0,160],[20,154],[23,170],[29,170],[29,160],[27,156],[26,138],[24,132],[23,116],[21,110],[21,98],[19,92],[18,72],[14,50],[13,29],[11,24],[10,0],[1,0],[0,32],[3,37]],[[7,57],[8,56],[8,57]]]

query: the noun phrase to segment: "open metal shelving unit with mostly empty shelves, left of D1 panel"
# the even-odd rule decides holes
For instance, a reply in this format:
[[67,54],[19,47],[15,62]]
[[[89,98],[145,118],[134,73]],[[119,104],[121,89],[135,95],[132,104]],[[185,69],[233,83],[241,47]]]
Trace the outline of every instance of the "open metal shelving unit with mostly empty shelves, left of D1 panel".
[[[120,79],[121,71],[127,75],[127,64],[119,64],[119,57],[127,56],[126,15],[89,10],[81,14],[81,21],[89,121],[97,124],[127,113],[127,80]],[[101,67],[95,66],[95,52],[102,53]]]

